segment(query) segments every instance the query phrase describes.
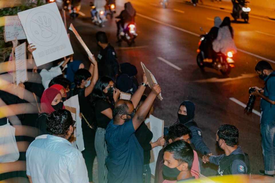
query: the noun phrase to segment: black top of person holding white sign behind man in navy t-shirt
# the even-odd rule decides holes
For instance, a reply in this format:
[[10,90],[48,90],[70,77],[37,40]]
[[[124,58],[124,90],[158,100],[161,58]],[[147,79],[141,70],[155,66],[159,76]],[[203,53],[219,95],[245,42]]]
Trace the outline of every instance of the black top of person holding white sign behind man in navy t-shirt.
[[149,164],[151,158],[150,150],[152,149],[150,141],[153,138],[153,133],[149,130],[147,125],[142,122],[140,127],[135,131],[135,136],[144,151],[144,164]]

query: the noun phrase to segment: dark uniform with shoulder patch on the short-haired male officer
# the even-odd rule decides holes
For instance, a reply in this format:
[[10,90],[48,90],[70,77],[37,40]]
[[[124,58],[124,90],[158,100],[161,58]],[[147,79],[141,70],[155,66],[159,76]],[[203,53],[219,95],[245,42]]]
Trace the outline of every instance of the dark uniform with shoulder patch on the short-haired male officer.
[[219,156],[210,156],[209,162],[219,165],[217,176],[232,174],[250,174],[250,162],[248,154],[245,154],[241,147],[231,152],[229,156],[221,154]]

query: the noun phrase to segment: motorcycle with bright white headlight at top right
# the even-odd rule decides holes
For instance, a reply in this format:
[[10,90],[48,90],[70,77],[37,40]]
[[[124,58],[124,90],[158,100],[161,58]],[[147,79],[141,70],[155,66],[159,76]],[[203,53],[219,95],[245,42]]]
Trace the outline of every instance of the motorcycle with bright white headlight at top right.
[[238,1],[236,2],[235,0],[233,1],[233,10],[231,13],[231,16],[234,18],[235,21],[237,19],[243,19],[245,23],[248,22],[248,13],[251,11],[250,7],[247,7],[246,3],[249,3],[248,1]]

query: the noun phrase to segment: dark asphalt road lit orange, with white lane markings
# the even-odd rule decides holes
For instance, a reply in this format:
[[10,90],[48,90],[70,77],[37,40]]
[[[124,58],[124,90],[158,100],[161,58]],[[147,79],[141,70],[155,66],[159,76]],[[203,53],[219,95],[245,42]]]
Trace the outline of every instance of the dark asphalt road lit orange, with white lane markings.
[[[122,10],[125,2],[117,0],[117,12]],[[258,170],[264,168],[259,124],[260,99],[256,100],[254,106],[256,114],[250,116],[243,113],[241,103],[247,103],[249,87],[264,85],[254,71],[257,61],[266,58],[275,68],[275,21],[250,17],[248,24],[232,23],[238,52],[233,57],[235,68],[228,76],[223,76],[219,71],[209,68],[202,72],[196,63],[196,50],[198,35],[203,33],[199,27],[209,31],[214,25],[215,16],[223,19],[230,16],[229,12],[205,6],[194,7],[184,1],[169,1],[167,9],[162,9],[158,0],[135,0],[131,3],[137,11],[138,33],[132,47],[127,47],[125,42],[121,45],[115,43],[115,19],[105,22],[105,27],[92,23],[87,0],[82,0],[80,10],[85,16],[68,19],[67,23],[73,23],[95,55],[99,51],[95,33],[105,31],[109,42],[117,51],[119,62],[136,65],[139,81],[143,74],[140,62],[146,65],[162,88],[164,100],[156,99],[153,115],[163,119],[165,126],[170,126],[177,120],[178,106],[182,101],[194,102],[195,121],[202,129],[203,139],[213,154],[219,154],[215,146],[218,126],[235,125],[240,132],[239,145],[250,156],[251,171],[258,174]],[[88,66],[87,54],[73,33],[69,33],[75,58],[85,61]],[[180,70],[171,67],[163,59]],[[150,89],[146,92],[150,92]],[[202,165],[201,173],[210,176],[215,175],[216,170],[217,166],[207,164]]]

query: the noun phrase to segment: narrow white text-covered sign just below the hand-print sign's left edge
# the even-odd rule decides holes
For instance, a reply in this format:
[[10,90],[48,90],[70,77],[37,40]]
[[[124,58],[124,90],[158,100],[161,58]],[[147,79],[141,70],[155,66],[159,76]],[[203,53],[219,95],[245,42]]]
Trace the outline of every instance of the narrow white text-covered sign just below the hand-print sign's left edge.
[[[28,80],[26,42],[15,47],[16,85]],[[13,73],[14,74],[14,73]]]

